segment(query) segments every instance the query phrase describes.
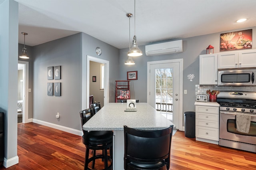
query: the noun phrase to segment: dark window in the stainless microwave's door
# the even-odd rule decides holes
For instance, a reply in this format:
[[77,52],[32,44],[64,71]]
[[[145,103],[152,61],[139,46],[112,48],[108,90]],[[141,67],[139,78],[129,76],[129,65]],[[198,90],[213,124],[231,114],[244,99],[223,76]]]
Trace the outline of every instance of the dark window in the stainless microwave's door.
[[230,73],[221,75],[222,83],[250,83],[250,81],[250,73]]

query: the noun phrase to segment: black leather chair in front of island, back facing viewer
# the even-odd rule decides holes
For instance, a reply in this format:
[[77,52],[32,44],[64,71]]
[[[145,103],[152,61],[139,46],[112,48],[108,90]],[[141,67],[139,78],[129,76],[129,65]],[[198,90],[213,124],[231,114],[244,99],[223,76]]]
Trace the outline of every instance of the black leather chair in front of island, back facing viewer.
[[139,130],[124,126],[124,170],[169,170],[172,128]]

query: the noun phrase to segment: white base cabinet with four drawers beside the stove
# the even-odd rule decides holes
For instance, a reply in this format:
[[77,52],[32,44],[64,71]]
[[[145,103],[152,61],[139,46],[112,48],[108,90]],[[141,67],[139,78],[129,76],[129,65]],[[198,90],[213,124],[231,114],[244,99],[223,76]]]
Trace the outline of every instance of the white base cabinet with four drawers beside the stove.
[[219,107],[196,105],[196,140],[218,144]]

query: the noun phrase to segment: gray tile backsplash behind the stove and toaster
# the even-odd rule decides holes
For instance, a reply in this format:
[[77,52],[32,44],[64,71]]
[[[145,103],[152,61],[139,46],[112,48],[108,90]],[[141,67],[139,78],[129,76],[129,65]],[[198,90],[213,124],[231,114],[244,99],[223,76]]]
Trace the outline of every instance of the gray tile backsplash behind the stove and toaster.
[[252,91],[256,92],[256,86],[217,86],[217,85],[196,85],[196,95],[206,95],[206,90],[218,91]]

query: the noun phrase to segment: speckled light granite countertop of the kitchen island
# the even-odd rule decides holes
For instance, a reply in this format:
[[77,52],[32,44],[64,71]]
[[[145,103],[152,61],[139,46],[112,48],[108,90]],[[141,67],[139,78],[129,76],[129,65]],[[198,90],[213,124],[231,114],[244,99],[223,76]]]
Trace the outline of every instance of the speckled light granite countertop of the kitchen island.
[[156,130],[173,125],[148,103],[136,103],[136,112],[127,112],[126,103],[108,103],[87,123],[84,130],[124,130],[124,125],[131,128]]

